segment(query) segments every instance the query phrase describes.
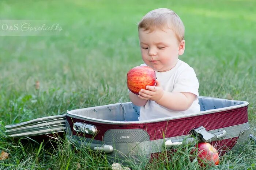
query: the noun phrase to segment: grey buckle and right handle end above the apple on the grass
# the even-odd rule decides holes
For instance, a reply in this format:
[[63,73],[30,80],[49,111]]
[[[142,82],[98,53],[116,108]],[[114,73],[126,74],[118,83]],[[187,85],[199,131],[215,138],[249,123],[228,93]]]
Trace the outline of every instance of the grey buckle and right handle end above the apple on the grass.
[[216,133],[211,134],[211,133],[208,133],[203,126],[200,126],[193,130],[193,134],[196,137],[199,137],[203,142],[212,142],[212,141],[216,141],[217,139],[220,140],[225,138],[227,135],[227,132],[225,130],[222,130],[222,131],[218,131]]

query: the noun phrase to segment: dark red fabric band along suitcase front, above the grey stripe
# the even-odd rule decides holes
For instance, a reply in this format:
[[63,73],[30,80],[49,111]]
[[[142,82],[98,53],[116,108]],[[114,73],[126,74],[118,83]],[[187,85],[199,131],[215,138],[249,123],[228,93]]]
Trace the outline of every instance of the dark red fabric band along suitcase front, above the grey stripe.
[[[156,140],[162,139],[163,134],[165,134],[165,138],[187,135],[192,129],[200,126],[204,126],[208,131],[247,123],[248,115],[247,106],[245,106],[233,110],[152,123],[105,124],[70,118],[69,116],[67,116],[67,120],[70,127],[73,127],[73,122],[93,124],[98,130],[98,133],[94,136],[94,139],[100,141],[103,140],[105,132],[109,129],[143,129],[149,134],[150,140]],[[77,132],[72,129],[72,134],[76,135]],[[92,135],[85,135],[83,133],[79,133],[78,135],[86,138],[93,137]]]

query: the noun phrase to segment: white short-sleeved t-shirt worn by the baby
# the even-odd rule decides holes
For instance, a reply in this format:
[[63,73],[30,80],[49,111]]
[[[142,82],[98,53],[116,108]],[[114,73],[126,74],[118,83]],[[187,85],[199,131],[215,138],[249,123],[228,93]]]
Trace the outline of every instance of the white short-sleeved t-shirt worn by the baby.
[[[146,64],[141,64],[140,66],[146,66]],[[185,111],[170,110],[155,103],[153,100],[148,100],[145,106],[140,107],[139,120],[189,115],[195,112],[200,112],[200,105],[198,103],[199,83],[192,67],[187,63],[178,60],[177,64],[171,70],[166,72],[155,71],[155,73],[157,80],[160,82],[164,91],[190,92],[197,97],[188,110]]]

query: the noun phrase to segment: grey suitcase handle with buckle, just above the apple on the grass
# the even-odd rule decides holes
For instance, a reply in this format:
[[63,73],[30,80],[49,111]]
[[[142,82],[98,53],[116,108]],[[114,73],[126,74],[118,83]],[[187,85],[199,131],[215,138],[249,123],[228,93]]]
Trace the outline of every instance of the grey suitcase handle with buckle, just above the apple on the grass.
[[174,140],[167,140],[165,141],[164,145],[166,147],[172,146],[179,146],[179,145],[186,145],[189,143],[193,143],[195,141],[198,142],[213,142],[217,140],[221,140],[226,137],[227,132],[225,130],[218,131],[216,133],[208,133],[203,126],[196,128],[192,131],[194,137],[183,138],[183,139],[174,139]]

